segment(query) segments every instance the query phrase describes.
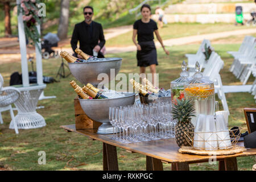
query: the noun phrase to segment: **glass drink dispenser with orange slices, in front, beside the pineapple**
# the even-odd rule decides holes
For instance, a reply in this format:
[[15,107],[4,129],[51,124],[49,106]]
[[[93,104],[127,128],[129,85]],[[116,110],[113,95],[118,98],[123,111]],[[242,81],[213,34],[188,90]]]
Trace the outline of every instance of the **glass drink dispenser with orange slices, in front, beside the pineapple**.
[[[192,100],[195,106],[196,116],[199,114],[213,115],[215,110],[214,83],[200,72],[200,65],[196,62],[196,73],[192,80],[185,84],[185,99]],[[192,118],[196,125],[196,117]]]

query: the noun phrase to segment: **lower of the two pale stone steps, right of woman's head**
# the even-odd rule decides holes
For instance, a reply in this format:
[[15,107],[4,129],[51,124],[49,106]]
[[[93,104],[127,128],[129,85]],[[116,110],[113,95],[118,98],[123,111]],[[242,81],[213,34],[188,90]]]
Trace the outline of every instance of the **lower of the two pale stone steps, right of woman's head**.
[[[158,15],[152,15],[152,19],[157,19]],[[168,23],[235,23],[236,16],[232,14],[166,14],[164,15]],[[243,14],[244,20],[251,19],[249,13]]]

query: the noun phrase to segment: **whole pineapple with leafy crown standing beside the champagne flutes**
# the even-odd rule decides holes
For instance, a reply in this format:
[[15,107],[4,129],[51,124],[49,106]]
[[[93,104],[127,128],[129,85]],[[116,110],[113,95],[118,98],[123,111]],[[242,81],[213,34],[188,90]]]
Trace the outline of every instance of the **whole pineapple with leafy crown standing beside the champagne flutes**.
[[[177,119],[175,127],[176,143],[179,147],[190,146],[187,142],[188,138],[184,131],[189,131],[190,138],[193,138],[194,126],[191,123],[191,117],[195,117],[195,108],[190,100],[177,100],[177,104],[172,107],[172,117]],[[187,138],[187,140],[186,140]]]

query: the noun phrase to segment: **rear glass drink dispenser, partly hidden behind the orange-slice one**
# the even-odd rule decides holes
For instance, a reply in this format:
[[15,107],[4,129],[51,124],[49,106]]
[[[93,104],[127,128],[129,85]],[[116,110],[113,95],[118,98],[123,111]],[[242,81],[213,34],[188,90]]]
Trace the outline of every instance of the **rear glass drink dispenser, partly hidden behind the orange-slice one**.
[[173,104],[176,103],[176,100],[182,100],[185,97],[184,85],[187,84],[188,81],[192,80],[187,72],[187,64],[185,61],[181,64],[181,69],[182,72],[180,73],[180,77],[171,82],[171,100]]

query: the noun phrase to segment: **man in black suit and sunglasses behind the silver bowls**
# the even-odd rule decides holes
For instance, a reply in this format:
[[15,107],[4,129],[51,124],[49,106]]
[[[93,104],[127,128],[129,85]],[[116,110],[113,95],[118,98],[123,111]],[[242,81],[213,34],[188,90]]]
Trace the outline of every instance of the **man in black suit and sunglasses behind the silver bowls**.
[[[93,52],[94,54],[97,52],[97,57],[104,57],[104,55],[100,52],[101,48],[104,47],[105,44],[102,26],[100,23],[92,20],[93,7],[85,6],[83,12],[85,20],[75,25],[71,38],[71,47],[75,52],[77,42],[79,41],[82,52],[85,52],[91,56],[93,56]],[[77,57],[82,58],[80,55],[77,55]]]

